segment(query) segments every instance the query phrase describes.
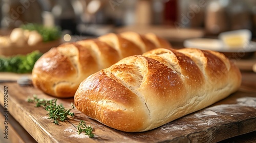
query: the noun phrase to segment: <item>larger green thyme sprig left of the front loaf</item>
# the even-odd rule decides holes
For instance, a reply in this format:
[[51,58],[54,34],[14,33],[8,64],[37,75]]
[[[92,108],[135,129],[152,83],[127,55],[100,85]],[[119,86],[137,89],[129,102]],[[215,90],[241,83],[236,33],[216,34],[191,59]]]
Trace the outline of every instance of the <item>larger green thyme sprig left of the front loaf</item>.
[[74,109],[74,105],[72,105],[71,109],[66,109],[62,104],[57,105],[57,99],[53,100],[45,100],[38,99],[37,96],[33,96],[33,99],[28,99],[28,102],[34,102],[35,107],[43,107],[46,111],[48,111],[49,119],[53,120],[53,123],[59,125],[59,121],[65,122],[68,120],[68,115],[71,117],[74,116],[74,113],[71,112],[71,109]]

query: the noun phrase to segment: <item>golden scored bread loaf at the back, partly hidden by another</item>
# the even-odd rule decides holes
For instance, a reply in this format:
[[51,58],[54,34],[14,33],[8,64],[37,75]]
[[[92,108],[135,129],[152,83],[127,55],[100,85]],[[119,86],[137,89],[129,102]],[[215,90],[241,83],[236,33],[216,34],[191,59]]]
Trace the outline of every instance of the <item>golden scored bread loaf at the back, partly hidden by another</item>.
[[79,84],[120,59],[141,55],[170,44],[150,33],[106,34],[95,39],[61,44],[42,55],[32,70],[33,85],[58,98],[74,97]]

